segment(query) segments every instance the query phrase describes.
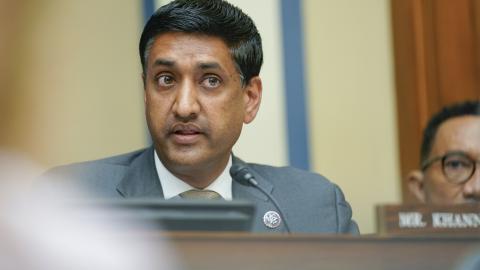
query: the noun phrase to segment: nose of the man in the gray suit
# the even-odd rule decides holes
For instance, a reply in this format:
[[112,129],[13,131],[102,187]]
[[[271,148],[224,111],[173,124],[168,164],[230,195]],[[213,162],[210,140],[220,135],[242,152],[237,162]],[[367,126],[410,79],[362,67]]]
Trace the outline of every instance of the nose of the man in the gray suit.
[[176,91],[175,103],[172,108],[175,117],[184,122],[195,119],[200,112],[195,84],[184,81]]

